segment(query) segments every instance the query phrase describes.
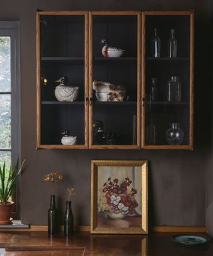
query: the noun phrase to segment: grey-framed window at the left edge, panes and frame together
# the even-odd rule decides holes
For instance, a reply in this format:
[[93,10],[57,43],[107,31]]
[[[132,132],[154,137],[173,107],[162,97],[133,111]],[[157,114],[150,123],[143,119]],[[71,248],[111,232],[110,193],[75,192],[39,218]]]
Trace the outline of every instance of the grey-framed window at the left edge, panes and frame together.
[[0,163],[7,165],[21,158],[19,61],[19,22],[0,21]]

